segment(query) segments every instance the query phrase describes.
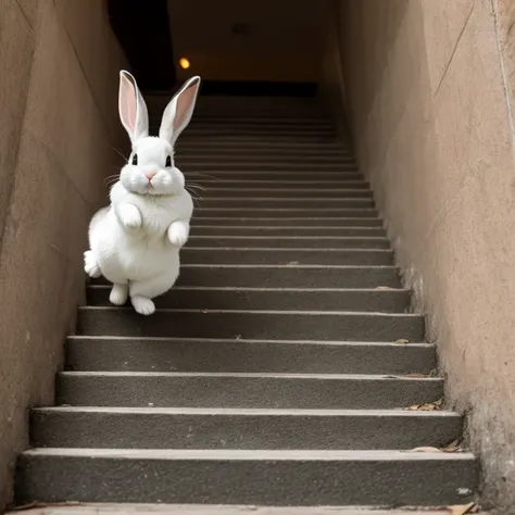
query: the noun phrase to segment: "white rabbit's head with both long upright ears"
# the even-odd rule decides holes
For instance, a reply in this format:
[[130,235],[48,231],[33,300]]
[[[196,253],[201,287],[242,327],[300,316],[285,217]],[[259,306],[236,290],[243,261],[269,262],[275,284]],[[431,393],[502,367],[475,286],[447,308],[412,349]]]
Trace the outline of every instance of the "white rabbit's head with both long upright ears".
[[120,118],[133,143],[120,181],[127,191],[138,194],[176,194],[185,187],[183,173],[174,166],[174,143],[193,113],[200,77],[185,83],[163,113],[159,137],[149,136],[147,105],[136,79],[120,73]]

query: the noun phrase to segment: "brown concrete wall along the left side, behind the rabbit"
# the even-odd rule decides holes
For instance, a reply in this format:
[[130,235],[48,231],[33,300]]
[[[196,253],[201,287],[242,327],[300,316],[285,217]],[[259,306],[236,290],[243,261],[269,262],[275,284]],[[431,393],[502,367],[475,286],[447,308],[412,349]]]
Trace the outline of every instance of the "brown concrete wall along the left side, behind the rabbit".
[[88,218],[125,142],[123,64],[104,0],[0,0],[0,512],[74,329]]

